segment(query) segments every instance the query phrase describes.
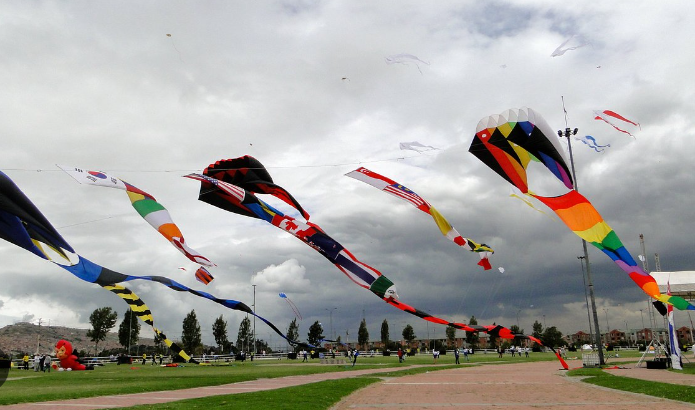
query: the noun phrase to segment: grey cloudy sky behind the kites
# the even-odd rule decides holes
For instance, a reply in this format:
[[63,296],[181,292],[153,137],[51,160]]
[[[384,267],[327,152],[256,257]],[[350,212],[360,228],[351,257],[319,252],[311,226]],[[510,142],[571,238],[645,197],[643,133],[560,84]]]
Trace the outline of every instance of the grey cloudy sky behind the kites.
[[[644,234],[650,268],[658,253],[662,270],[693,270],[694,14],[686,1],[2,2],[0,169],[81,255],[203,288],[196,265],[125,193],[80,185],[55,164],[148,191],[217,263],[205,290],[251,305],[255,284],[258,313],[282,329],[294,318],[278,297],[285,292],[303,338],[317,320],[343,340],[356,339],[362,317],[373,339],[384,319],[392,339],[406,324],[419,337],[444,328],[385,305],[296,238],[198,201],[198,183],[182,175],[252,155],[312,222],[393,280],[402,301],[454,321],[518,322],[527,333],[536,320],[588,331],[580,239],[510,198],[510,185],[468,147],[481,118],[509,108],[532,107],[553,129],[567,120],[610,144],[597,153],[574,142],[578,183],[628,250],[640,254]],[[573,35],[588,44],[551,57]],[[424,63],[386,63],[399,53]],[[628,128],[632,138],[594,120],[605,109],[641,129]],[[439,149],[399,150],[403,141]],[[413,189],[463,236],[493,247],[495,269],[479,268],[427,215],[344,176],[359,166]],[[590,249],[590,258],[600,325],[641,327],[645,295],[605,255]],[[9,243],[0,260],[0,325],[87,328],[98,307],[126,310]],[[236,338],[241,314],[158,284],[130,287],[172,338],[192,309],[205,342],[220,315]]]

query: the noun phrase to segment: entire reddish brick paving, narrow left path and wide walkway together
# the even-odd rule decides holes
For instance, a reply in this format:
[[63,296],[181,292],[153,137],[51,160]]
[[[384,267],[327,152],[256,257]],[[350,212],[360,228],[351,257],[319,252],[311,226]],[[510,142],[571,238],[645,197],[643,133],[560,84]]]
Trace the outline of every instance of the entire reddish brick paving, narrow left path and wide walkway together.
[[[612,361],[612,363],[616,363]],[[617,363],[619,366],[623,366]],[[581,361],[569,361],[570,368],[581,367]],[[552,408],[610,410],[695,409],[694,405],[658,399],[635,393],[619,392],[578,382],[565,377],[557,362],[505,363],[466,366],[412,376],[384,379],[345,397],[331,410],[348,409],[489,409],[513,410]],[[612,374],[667,383],[695,385],[695,375],[667,370],[635,368],[608,370]],[[150,393],[104,396],[66,401],[27,403],[3,406],[4,409],[105,409],[138,404],[167,403],[182,399],[246,393],[298,386],[323,380],[362,376],[384,372],[385,369],[354,370],[350,373],[324,373],[262,379],[222,386],[160,391]]]

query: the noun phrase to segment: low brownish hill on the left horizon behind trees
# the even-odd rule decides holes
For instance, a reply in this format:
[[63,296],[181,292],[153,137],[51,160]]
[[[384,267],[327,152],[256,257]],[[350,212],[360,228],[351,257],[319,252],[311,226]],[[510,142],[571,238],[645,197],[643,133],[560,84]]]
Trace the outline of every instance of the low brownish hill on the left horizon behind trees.
[[[64,326],[38,326],[27,322],[0,328],[0,350],[17,356],[20,353],[35,353],[37,344],[39,353],[53,354],[53,348],[59,340],[65,339],[72,343],[76,351],[84,350],[94,354],[94,342],[87,337],[87,329],[75,329]],[[141,345],[153,346],[153,339],[141,338]],[[118,343],[118,334],[109,333],[106,340],[99,342],[99,350],[122,349]]]

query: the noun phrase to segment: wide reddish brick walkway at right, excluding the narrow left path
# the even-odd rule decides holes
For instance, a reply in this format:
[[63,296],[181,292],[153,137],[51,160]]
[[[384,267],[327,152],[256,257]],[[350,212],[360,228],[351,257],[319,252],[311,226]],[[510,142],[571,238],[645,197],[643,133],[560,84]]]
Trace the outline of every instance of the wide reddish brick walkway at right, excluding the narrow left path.
[[[581,361],[569,362],[570,368]],[[634,365],[627,365],[634,366]],[[626,367],[627,367],[626,366]],[[693,375],[666,370],[621,369],[621,376],[666,378],[695,381]],[[654,373],[652,373],[654,372]],[[564,376],[557,362],[500,364],[461,367],[386,380],[368,386],[344,398],[331,410],[379,409],[453,409],[509,408],[514,410],[552,408],[610,410],[689,409],[694,405],[652,396],[620,392],[581,383]]]

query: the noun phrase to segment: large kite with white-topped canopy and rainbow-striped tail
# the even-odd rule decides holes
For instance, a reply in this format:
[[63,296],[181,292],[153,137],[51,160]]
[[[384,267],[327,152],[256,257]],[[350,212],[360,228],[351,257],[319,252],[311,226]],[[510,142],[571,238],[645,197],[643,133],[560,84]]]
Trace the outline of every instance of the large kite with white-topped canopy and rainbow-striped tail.
[[[685,299],[659,292],[654,278],[638,266],[594,206],[574,190],[564,154],[553,148],[556,144],[556,134],[540,114],[530,108],[521,108],[480,120],[469,152],[522,193],[538,199],[552,209],[577,236],[611,258],[644,293],[677,309],[695,310],[695,306]],[[530,155],[536,158],[540,155],[541,162],[564,183],[569,192],[556,197],[544,197],[531,192],[526,180]]]

